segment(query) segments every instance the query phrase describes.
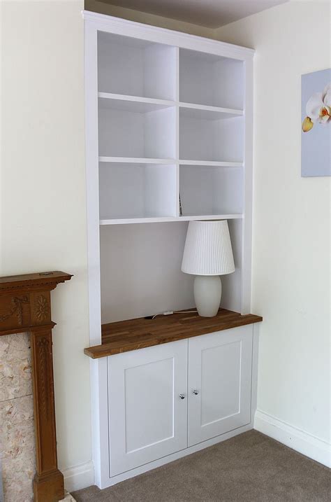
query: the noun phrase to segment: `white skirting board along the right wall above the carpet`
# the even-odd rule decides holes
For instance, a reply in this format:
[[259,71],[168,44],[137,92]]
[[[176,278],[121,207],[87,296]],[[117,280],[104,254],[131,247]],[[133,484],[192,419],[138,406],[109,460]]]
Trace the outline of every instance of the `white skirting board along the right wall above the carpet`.
[[310,459],[323,463],[324,466],[331,467],[331,445],[330,443],[316,438],[299,428],[290,426],[271,415],[256,410],[254,419],[256,431],[269,435],[284,445],[295,449],[295,451],[309,456]]

